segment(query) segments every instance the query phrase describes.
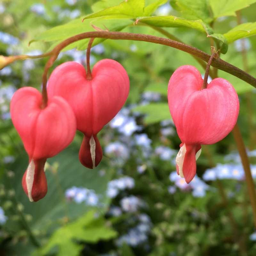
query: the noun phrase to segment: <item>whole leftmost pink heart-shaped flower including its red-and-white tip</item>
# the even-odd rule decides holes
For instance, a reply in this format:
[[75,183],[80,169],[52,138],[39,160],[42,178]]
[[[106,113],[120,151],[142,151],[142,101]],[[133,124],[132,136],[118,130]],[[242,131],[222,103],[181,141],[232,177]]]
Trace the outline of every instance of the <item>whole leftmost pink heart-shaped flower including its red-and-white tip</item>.
[[17,90],[11,100],[11,118],[28,153],[29,165],[22,186],[31,202],[47,193],[46,159],[66,148],[76,134],[76,118],[68,102],[52,97],[45,108],[33,87]]

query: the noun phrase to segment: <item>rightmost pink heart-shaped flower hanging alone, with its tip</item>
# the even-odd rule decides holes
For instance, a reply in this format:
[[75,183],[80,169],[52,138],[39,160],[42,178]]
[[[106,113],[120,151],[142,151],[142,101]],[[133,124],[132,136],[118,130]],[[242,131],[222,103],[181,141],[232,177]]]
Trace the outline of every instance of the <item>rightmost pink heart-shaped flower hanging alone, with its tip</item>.
[[193,66],[178,68],[170,78],[168,104],[180,137],[177,172],[189,183],[196,175],[201,145],[213,144],[234,128],[239,100],[233,86],[215,78],[201,90],[203,79]]

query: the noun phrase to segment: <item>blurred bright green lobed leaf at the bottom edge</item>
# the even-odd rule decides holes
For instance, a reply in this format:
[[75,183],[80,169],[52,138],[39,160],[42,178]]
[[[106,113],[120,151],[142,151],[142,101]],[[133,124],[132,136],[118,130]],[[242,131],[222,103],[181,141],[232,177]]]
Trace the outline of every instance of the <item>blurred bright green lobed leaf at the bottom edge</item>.
[[104,218],[95,214],[95,211],[90,211],[78,220],[56,230],[37,253],[45,255],[53,247],[58,246],[57,256],[79,256],[84,248],[79,242],[97,243],[100,240],[115,238],[117,232],[106,227]]

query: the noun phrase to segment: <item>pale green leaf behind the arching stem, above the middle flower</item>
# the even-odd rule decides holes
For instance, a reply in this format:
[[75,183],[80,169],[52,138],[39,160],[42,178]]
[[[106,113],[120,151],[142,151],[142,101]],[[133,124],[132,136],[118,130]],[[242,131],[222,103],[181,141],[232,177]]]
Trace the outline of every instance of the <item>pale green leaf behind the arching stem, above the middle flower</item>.
[[[84,20],[82,23],[81,19],[76,19],[68,22],[65,25],[57,26],[54,28],[51,28],[49,30],[44,31],[43,33],[39,34],[32,40],[30,43],[35,41],[44,41],[44,42],[55,42],[50,50],[56,46],[57,44],[60,44],[65,39],[76,36],[81,33],[94,31],[94,28],[92,25],[102,28],[102,29],[108,29],[109,31],[120,31],[124,29],[125,27],[129,26],[133,22],[131,20],[127,19],[119,19],[119,20]],[[106,27],[106,28],[105,28]],[[88,42],[90,38],[82,39],[80,41],[77,41],[75,43],[69,44],[67,47],[63,49],[63,51],[67,51],[73,48],[77,48],[77,50],[85,50],[87,48]],[[93,42],[93,45],[99,44],[100,42],[103,42],[104,38],[96,38]]]

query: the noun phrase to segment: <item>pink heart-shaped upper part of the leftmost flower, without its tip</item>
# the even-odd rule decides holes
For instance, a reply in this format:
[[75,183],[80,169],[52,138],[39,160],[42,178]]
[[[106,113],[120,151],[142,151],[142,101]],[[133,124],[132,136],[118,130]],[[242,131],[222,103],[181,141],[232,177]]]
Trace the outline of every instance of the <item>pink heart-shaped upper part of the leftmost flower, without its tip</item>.
[[76,133],[76,118],[66,100],[53,97],[44,109],[41,104],[41,93],[32,87],[20,88],[11,100],[12,122],[29,159],[57,155]]

